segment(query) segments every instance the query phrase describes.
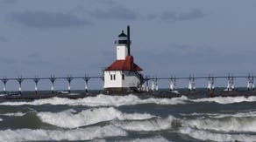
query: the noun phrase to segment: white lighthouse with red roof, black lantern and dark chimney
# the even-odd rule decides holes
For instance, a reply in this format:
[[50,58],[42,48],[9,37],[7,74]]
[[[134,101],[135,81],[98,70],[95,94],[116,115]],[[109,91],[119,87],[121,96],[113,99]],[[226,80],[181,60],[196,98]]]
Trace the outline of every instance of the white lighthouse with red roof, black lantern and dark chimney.
[[130,27],[127,35],[122,30],[117,41],[117,59],[104,70],[104,91],[126,93],[141,91],[143,84],[142,68],[134,63],[131,55]]

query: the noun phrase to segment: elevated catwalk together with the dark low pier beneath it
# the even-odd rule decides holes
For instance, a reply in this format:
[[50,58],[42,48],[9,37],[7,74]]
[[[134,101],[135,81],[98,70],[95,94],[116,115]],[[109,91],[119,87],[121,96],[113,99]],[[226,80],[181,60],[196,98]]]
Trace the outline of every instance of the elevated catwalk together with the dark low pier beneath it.
[[[226,79],[227,86],[219,89],[216,88],[215,82],[218,78]],[[246,81],[245,88],[235,88],[235,80],[236,78],[244,78]],[[139,96],[148,96],[154,98],[173,98],[180,96],[198,96],[198,97],[216,97],[216,96],[256,96],[256,91],[254,91],[253,79],[256,78],[249,74],[248,76],[233,76],[228,74],[228,76],[218,76],[214,77],[209,75],[207,77],[195,77],[194,75],[190,75],[188,78],[153,78],[153,77],[144,77],[143,78],[143,86],[140,91],[134,92],[104,92],[104,91],[89,91],[89,81],[91,79],[99,79],[103,80],[101,76],[92,76],[89,77],[85,75],[84,77],[72,77],[68,75],[68,77],[55,77],[51,75],[49,78],[39,78],[39,76],[35,76],[35,78],[22,78],[19,76],[18,78],[0,78],[4,85],[4,90],[0,95],[0,99],[39,99],[39,98],[86,98],[89,96],[96,96],[99,93],[103,93],[106,95],[127,95],[127,94],[135,94]],[[39,91],[38,85],[40,80],[47,79],[51,85],[50,91]],[[75,91],[71,90],[71,83],[75,79],[84,80],[84,91],[80,91],[75,93]],[[177,89],[176,83],[181,80],[188,80],[188,88],[183,89],[184,91],[180,91],[181,89]],[[204,89],[196,89],[196,80],[204,79],[206,81],[206,87]],[[11,93],[11,91],[7,91],[8,81],[16,80],[18,82],[18,91],[15,93]],[[22,83],[24,81],[32,81],[35,83],[35,91],[22,91]],[[55,91],[54,90],[54,82],[56,80],[63,80],[67,82],[67,90],[65,91]],[[160,91],[158,82],[160,80],[168,80],[169,81],[169,89],[166,91]],[[151,88],[149,84],[151,83]],[[218,86],[220,87],[220,86]]]

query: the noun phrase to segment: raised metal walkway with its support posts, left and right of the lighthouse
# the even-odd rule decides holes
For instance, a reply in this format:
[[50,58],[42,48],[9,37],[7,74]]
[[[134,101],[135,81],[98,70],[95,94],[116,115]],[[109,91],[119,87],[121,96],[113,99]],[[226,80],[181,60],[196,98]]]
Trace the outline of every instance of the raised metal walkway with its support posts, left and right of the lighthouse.
[[[228,76],[213,76],[213,75],[209,75],[209,76],[201,76],[201,77],[196,77],[194,75],[190,75],[189,77],[175,77],[175,76],[171,76],[170,78],[157,78],[157,77],[150,77],[150,76],[145,76],[143,77],[139,72],[136,72],[137,76],[139,76],[140,78],[140,83],[138,87],[145,87],[149,88],[149,82],[151,81],[152,83],[152,90],[153,91],[157,91],[158,90],[158,81],[159,80],[168,80],[169,81],[169,86],[170,86],[170,90],[174,91],[176,89],[176,82],[178,82],[179,80],[185,79],[188,80],[188,89],[190,91],[194,91],[196,90],[196,80],[198,79],[206,79],[208,81],[208,85],[207,85],[207,89],[208,90],[214,90],[215,88],[215,80],[218,78],[225,78],[227,80],[227,91],[232,91],[235,88],[235,79],[236,78],[245,78],[247,81],[247,90],[254,90],[254,84],[253,84],[253,80],[254,78],[256,78],[256,76],[253,76],[252,74],[249,74],[248,76],[233,76],[231,74],[228,74]],[[39,78],[39,76],[35,76],[34,78],[23,78],[22,76],[18,76],[18,78],[0,78],[0,80],[3,82],[4,84],[4,93],[7,93],[6,91],[6,86],[7,83],[10,80],[15,80],[18,82],[18,91],[21,94],[22,92],[22,83],[25,80],[31,80],[35,83],[35,93],[38,94],[38,84],[41,80],[49,80],[51,83],[51,92],[54,93],[54,83],[56,80],[67,80],[68,83],[68,92],[71,91],[71,83],[73,80],[75,79],[82,79],[85,82],[84,85],[84,91],[88,92],[89,91],[89,80],[90,79],[100,79],[103,80],[103,76],[89,76],[89,75],[85,75],[83,77],[73,77],[71,75],[68,75],[67,77],[55,77],[54,75],[51,75],[48,78]],[[144,85],[144,86],[143,86]]]

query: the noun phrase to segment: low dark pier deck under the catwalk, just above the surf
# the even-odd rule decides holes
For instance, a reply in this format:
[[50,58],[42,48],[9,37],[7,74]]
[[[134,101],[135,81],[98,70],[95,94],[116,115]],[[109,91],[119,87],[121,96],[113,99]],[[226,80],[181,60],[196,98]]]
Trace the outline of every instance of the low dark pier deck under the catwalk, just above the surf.
[[[6,94],[0,96],[0,100],[8,100],[8,99],[40,99],[40,98],[87,98],[87,97],[96,97],[98,94],[102,94],[102,91],[92,91],[92,92],[78,92],[78,93],[54,93],[51,94],[50,91],[40,93],[35,95],[32,91],[25,91],[22,94]],[[113,96],[124,96],[129,95],[131,93],[113,93],[113,94],[105,94],[105,95],[113,95]],[[146,98],[176,98],[181,96],[187,96],[188,98],[212,98],[212,97],[238,97],[238,96],[256,96],[256,91],[247,91],[247,90],[233,90],[233,91],[207,91],[207,90],[197,90],[197,91],[181,91],[179,93],[172,91],[148,91],[148,92],[140,92],[140,93],[132,93],[133,95],[139,97]]]

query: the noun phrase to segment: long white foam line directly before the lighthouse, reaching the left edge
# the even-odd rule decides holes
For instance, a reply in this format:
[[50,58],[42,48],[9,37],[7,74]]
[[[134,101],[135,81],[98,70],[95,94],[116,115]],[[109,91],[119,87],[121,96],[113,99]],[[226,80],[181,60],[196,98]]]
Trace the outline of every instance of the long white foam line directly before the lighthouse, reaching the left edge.
[[134,95],[110,96],[97,95],[96,97],[69,99],[69,98],[45,98],[37,99],[32,102],[3,102],[0,105],[87,105],[87,106],[120,106],[120,105],[139,105],[139,104],[157,104],[157,105],[178,105],[185,104],[187,97],[181,98],[146,98],[141,99]]

